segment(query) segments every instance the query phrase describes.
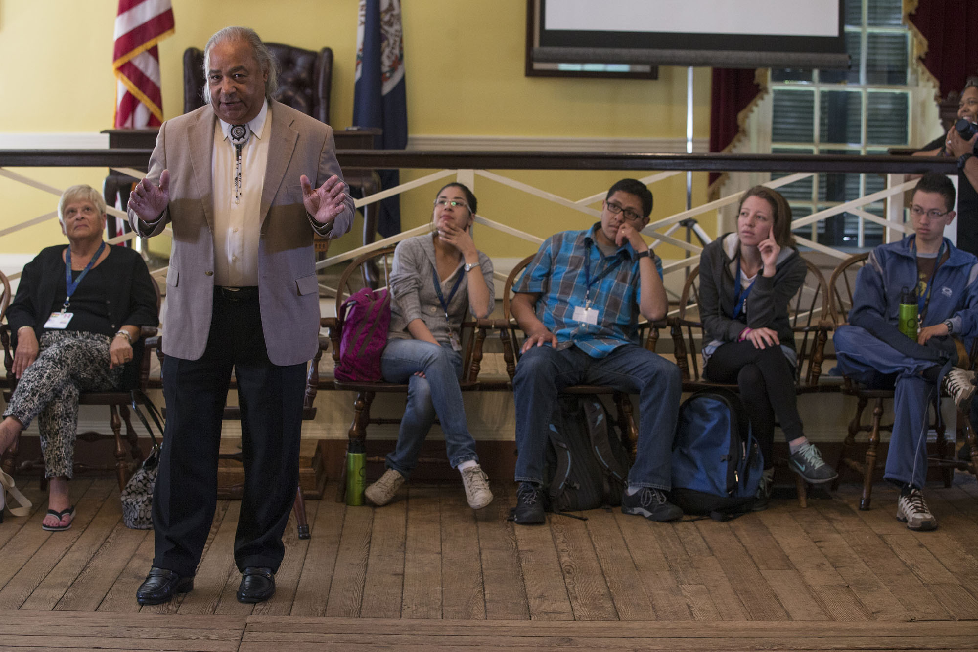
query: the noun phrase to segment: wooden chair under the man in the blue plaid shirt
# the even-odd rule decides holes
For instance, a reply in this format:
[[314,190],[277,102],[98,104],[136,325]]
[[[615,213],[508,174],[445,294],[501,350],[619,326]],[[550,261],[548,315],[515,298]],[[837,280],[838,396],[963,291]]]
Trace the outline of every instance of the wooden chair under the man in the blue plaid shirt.
[[[503,356],[506,361],[506,371],[510,376],[510,381],[512,382],[512,377],[516,373],[516,363],[519,361],[519,326],[516,324],[515,320],[512,318],[510,312],[511,306],[511,296],[512,296],[512,286],[519,279],[519,275],[522,274],[523,270],[536,254],[531,254],[526,258],[519,261],[515,267],[512,268],[510,276],[506,279],[506,285],[503,290],[503,315],[505,317],[506,324],[506,337],[503,339]],[[655,345],[659,339],[659,328],[664,326],[665,323],[656,324],[644,324],[640,327],[640,332],[643,334],[643,341],[645,348],[649,351],[655,351]],[[647,333],[646,333],[647,331]],[[629,398],[628,394],[625,392],[620,392],[611,387],[604,385],[572,385],[570,387],[565,387],[560,391],[563,395],[580,395],[580,394],[596,394],[599,396],[610,396],[611,400],[615,405],[616,418],[615,422],[618,425],[619,432],[621,432],[622,444],[625,446],[625,450],[628,451],[632,459],[635,459],[636,451],[639,444],[639,428],[635,424],[635,414],[634,407],[632,406],[632,400]]]

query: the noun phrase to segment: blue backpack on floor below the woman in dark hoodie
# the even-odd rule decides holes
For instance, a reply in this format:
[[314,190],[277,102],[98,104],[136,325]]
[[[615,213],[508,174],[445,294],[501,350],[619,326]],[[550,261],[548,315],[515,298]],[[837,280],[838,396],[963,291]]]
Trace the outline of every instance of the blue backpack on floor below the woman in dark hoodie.
[[701,389],[683,402],[672,453],[674,504],[687,514],[736,518],[750,510],[763,472],[764,456],[736,394]]

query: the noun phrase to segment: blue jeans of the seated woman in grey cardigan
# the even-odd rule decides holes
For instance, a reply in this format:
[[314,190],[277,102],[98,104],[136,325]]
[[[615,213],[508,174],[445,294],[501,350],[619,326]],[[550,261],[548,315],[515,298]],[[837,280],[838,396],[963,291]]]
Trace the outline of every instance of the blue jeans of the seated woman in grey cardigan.
[[[423,378],[415,375],[418,371],[424,373]],[[380,373],[387,382],[408,383],[408,405],[397,433],[397,447],[387,456],[387,468],[405,478],[411,475],[435,414],[445,433],[449,463],[458,466],[469,459],[478,461],[459,389],[462,356],[451,346],[420,339],[389,339],[380,354]]]

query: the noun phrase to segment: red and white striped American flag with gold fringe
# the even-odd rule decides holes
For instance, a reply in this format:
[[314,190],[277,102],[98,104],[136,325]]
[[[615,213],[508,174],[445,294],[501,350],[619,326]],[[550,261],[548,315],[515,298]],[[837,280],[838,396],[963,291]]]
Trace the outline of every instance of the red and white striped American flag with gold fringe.
[[112,53],[116,129],[139,129],[162,123],[156,43],[172,33],[170,0],[119,0]]

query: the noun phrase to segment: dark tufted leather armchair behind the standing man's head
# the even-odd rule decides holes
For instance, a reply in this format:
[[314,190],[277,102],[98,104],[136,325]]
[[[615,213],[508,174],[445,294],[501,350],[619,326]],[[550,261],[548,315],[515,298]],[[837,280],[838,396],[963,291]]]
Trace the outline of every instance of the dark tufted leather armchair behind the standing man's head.
[[[333,86],[333,50],[319,52],[282,43],[266,43],[279,62],[279,89],[275,99],[292,109],[330,123],[330,90]],[[203,51],[184,51],[184,112],[203,106]]]

